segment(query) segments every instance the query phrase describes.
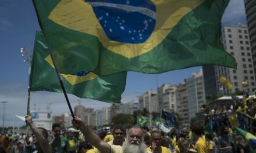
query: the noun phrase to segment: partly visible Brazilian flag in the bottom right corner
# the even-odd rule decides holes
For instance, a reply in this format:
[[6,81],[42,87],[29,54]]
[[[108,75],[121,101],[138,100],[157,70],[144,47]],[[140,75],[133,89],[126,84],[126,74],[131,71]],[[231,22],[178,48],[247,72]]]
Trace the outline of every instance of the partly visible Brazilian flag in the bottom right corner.
[[234,127],[236,132],[243,137],[243,139],[246,141],[246,143],[249,145],[251,152],[256,152],[256,136],[254,136],[251,133],[246,132],[245,130],[242,130],[240,128]]

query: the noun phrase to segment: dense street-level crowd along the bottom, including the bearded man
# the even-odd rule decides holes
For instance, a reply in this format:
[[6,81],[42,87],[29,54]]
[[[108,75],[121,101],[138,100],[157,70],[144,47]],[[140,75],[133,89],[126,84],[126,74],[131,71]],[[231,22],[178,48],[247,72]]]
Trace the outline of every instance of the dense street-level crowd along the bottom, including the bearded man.
[[[241,136],[233,136],[228,125],[221,125],[216,136],[205,134],[204,126],[199,122],[191,124],[190,129],[173,128],[164,133],[158,128],[131,126],[123,129],[120,125],[112,126],[108,132],[95,133],[86,123],[75,117],[74,128],[63,133],[61,125],[54,123],[52,132],[37,128],[31,116],[26,116],[26,123],[32,133],[0,136],[0,153],[30,152],[112,152],[112,153],[183,153],[183,152],[250,152],[250,148]],[[76,130],[75,128],[79,129]]]

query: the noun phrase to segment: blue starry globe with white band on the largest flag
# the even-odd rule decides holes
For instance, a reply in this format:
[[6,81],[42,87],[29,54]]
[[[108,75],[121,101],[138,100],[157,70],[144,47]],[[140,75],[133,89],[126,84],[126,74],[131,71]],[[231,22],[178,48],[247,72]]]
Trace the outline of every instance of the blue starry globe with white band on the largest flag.
[[106,36],[112,41],[143,43],[155,28],[156,8],[147,0],[88,0]]

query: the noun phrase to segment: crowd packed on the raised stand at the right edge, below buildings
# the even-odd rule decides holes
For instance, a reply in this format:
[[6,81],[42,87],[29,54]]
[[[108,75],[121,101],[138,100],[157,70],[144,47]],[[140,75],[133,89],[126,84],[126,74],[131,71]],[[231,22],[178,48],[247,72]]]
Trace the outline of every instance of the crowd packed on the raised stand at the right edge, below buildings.
[[[209,124],[215,132],[223,125],[231,128],[235,124],[251,133],[256,133],[256,97],[249,97],[248,94],[244,94],[243,99],[234,97],[233,101],[233,104],[222,103],[216,107],[202,105],[204,124]],[[237,123],[232,119],[237,119]]]

